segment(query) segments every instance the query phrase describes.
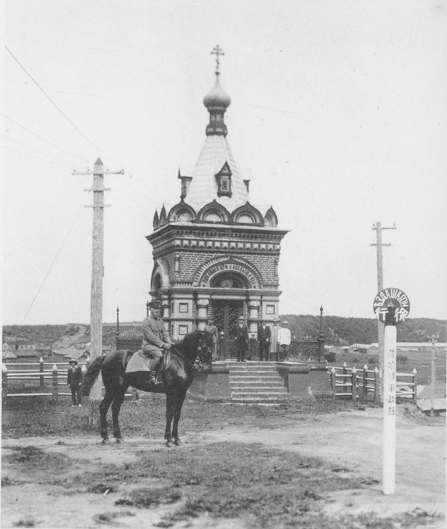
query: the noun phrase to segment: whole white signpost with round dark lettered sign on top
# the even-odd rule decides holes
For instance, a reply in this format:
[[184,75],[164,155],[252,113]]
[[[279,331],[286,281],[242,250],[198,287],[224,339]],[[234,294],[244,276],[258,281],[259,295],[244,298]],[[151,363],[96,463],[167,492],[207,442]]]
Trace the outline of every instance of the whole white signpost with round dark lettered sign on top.
[[396,324],[410,312],[408,296],[398,288],[384,288],[374,298],[374,313],[384,333],[384,435],[382,477],[384,494],[396,488]]

